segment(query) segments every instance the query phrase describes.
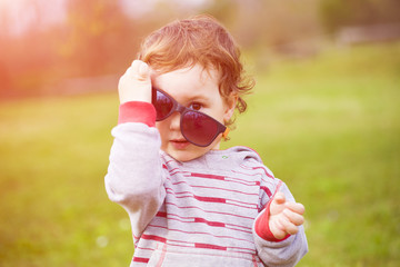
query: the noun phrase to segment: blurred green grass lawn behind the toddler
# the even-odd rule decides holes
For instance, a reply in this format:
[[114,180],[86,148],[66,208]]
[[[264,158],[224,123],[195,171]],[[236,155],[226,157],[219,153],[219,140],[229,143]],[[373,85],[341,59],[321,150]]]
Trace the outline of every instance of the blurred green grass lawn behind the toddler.
[[[257,77],[223,147],[257,149],[304,204],[298,266],[399,266],[400,43]],[[117,109],[116,93],[0,103],[0,266],[129,266],[128,216],[103,186]]]

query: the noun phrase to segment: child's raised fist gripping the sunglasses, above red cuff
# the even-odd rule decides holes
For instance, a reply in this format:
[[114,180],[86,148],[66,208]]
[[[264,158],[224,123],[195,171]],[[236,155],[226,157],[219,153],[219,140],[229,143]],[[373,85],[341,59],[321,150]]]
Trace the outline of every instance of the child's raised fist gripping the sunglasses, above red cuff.
[[141,60],[134,60],[118,83],[120,103],[128,101],[151,102],[150,68]]

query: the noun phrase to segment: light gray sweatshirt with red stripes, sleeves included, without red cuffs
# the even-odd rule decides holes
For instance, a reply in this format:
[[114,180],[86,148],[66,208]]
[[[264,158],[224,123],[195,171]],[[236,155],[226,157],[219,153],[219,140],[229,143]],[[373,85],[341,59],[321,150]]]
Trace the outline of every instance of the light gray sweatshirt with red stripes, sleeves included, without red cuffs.
[[111,200],[129,214],[133,266],[293,266],[307,251],[302,227],[268,240],[254,221],[287,186],[253,150],[210,150],[181,162],[160,151],[154,127],[120,123],[106,176]]

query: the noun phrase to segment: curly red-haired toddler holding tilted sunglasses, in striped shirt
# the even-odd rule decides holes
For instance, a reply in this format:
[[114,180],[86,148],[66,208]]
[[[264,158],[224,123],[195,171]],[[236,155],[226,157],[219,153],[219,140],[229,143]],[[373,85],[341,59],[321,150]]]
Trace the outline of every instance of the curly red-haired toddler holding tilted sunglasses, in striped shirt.
[[220,150],[252,82],[213,18],[151,33],[119,81],[106,176],[129,214],[133,266],[293,266],[304,208],[247,147]]

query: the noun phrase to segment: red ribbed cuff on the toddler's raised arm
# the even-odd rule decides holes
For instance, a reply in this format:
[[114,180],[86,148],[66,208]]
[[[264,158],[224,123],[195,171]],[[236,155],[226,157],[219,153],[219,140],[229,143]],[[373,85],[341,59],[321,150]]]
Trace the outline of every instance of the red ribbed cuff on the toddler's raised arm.
[[129,101],[120,105],[118,123],[141,122],[149,127],[154,127],[156,115],[156,108],[151,103]]

